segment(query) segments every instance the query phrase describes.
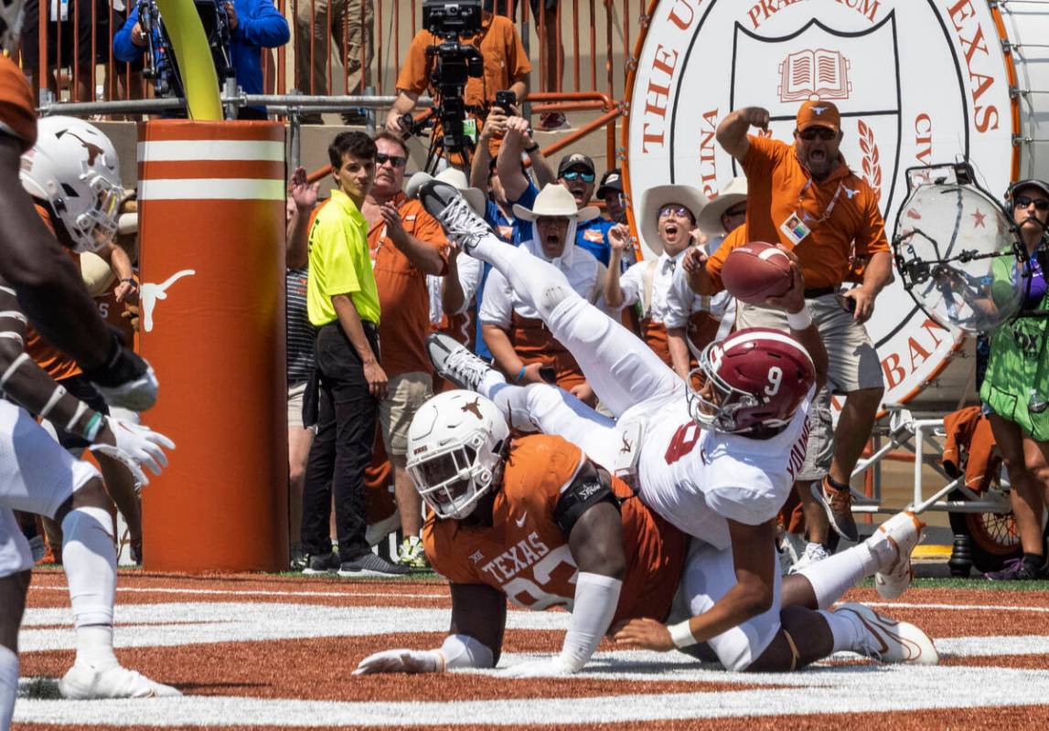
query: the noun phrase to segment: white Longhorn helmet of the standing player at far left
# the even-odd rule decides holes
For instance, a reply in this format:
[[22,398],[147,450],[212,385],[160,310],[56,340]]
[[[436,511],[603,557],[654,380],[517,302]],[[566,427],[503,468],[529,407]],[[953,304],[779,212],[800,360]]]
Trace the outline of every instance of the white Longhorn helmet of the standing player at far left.
[[74,251],[94,252],[112,240],[124,187],[116,150],[97,127],[71,116],[42,117],[20,176],[22,188],[62,221]]

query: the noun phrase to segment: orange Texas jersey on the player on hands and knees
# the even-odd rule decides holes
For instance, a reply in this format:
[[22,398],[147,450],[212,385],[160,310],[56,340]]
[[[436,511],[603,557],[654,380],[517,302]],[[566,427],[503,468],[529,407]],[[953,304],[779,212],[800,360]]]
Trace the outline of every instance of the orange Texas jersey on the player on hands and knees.
[[[452,583],[487,584],[529,609],[571,609],[578,569],[568,536],[554,520],[561,492],[583,464],[579,448],[559,436],[514,439],[492,506],[492,525],[437,520],[423,529],[426,556]],[[613,622],[666,619],[685,565],[686,536],[648,511],[613,478],[622,503],[626,577]]]

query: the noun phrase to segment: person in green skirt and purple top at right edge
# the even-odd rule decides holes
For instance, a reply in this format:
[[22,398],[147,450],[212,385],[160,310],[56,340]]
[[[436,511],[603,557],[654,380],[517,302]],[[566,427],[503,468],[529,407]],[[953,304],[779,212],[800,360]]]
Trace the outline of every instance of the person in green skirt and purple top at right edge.
[[1045,322],[1049,310],[1049,184],[1021,180],[1009,188],[1006,201],[1020,229],[1032,275],[1020,317],[999,325],[990,336],[990,358],[980,399],[989,411],[991,431],[1009,472],[1009,500],[1024,551],[1021,558],[986,576],[1015,581],[1049,578],[1042,538],[1042,516],[1049,506],[1049,345]]

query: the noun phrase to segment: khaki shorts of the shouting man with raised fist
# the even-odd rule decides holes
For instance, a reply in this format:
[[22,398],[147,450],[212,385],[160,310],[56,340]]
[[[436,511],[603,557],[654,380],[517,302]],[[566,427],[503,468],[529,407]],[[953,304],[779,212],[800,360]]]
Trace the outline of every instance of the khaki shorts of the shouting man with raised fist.
[[[882,388],[881,363],[866,327],[857,323],[852,314],[838,304],[834,295],[823,295],[807,302],[830,360],[827,378],[831,392],[844,394],[863,388]],[[740,328],[789,329],[787,314],[782,309],[740,303],[735,318]]]

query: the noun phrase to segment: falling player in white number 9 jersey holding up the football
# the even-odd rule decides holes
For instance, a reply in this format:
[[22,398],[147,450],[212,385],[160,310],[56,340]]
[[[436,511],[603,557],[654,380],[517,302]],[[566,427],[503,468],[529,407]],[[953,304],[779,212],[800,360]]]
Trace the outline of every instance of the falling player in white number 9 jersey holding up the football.
[[[808,405],[827,370],[796,262],[790,292],[769,301],[788,311],[794,337],[741,330],[708,346],[686,384],[633,334],[575,295],[556,270],[499,244],[453,188],[419,177],[409,184],[413,192],[449,240],[491,263],[540,314],[617,421],[556,389],[510,386],[465,348],[449,351],[442,346],[446,341],[432,339],[431,358],[442,374],[492,399],[515,427],[560,434],[607,469],[635,473],[641,499],[699,539],[691,551],[700,555],[689,561],[698,571],[684,579],[690,619],[670,627],[633,620],[617,638],[656,649],[709,643],[732,669],[789,669],[810,662],[792,636],[819,628],[829,629],[832,642],[810,648],[817,657],[854,644],[864,631],[859,615],[805,609],[780,615],[775,518],[805,456]],[[897,522],[902,540],[892,542],[909,544],[904,560],[883,562],[874,551],[851,554],[834,572],[796,583],[796,590],[809,596],[787,603],[826,609],[841,587],[878,566],[892,575],[889,583],[905,588],[920,529],[913,516]],[[876,612],[864,611],[866,621],[878,621]],[[935,660],[932,642],[920,630],[917,635],[905,651]]]

